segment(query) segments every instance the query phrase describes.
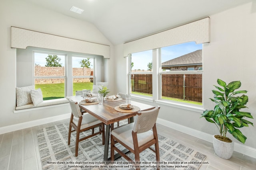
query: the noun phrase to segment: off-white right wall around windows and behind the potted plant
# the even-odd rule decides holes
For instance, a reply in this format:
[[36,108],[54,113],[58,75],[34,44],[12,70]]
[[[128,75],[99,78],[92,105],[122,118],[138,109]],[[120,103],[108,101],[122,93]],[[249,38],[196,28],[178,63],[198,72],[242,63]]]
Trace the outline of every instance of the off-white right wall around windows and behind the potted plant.
[[[204,109],[213,109],[214,105],[209,100],[213,97],[213,85],[218,85],[218,78],[231,82],[240,80],[241,90],[248,90],[248,107],[244,111],[250,112],[256,125],[256,9],[252,3],[210,16],[210,43],[203,45],[203,105]],[[123,45],[115,46],[117,91],[126,92],[126,74],[124,68],[126,59],[123,56]],[[123,69],[120,70],[119,68]],[[145,102],[152,104],[150,102]],[[159,105],[155,102],[153,105]],[[214,124],[208,123],[201,113],[160,105],[159,118],[183,125],[208,134],[217,134],[218,129]],[[255,127],[251,125],[240,129],[248,138],[245,145],[256,149]],[[238,142],[230,134],[228,137]]]

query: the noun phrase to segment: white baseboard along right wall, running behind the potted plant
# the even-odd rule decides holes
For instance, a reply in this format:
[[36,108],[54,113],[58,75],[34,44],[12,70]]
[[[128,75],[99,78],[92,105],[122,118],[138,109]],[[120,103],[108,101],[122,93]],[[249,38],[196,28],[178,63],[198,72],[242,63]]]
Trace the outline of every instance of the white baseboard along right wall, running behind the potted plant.
[[[175,129],[177,131],[181,131],[183,133],[192,135],[194,137],[197,137],[199,139],[203,139],[205,141],[208,141],[210,143],[212,143],[212,135],[208,134],[208,133],[204,133],[183,125],[179,125],[177,123],[173,123],[171,121],[166,121],[164,119],[160,119],[158,118],[156,123],[159,123],[160,125],[164,125],[166,127],[170,127],[172,129]],[[252,147],[247,147],[245,145],[242,145],[240,143],[234,143],[234,151],[251,156],[253,158],[256,158],[256,149],[252,148]]]

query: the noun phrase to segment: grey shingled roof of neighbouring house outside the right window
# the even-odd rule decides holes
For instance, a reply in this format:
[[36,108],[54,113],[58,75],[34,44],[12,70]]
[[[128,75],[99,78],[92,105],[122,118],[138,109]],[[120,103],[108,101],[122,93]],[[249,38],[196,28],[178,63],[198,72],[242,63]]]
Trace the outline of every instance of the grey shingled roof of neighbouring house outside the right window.
[[163,67],[202,65],[202,50],[197,50],[186,55],[162,63]]

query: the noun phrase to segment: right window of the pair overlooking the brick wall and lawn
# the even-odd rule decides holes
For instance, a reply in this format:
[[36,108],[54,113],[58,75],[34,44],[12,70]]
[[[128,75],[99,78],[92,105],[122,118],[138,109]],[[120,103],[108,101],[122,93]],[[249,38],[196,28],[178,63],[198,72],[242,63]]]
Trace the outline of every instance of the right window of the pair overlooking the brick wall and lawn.
[[73,95],[75,95],[76,90],[92,90],[94,65],[94,58],[72,57]]

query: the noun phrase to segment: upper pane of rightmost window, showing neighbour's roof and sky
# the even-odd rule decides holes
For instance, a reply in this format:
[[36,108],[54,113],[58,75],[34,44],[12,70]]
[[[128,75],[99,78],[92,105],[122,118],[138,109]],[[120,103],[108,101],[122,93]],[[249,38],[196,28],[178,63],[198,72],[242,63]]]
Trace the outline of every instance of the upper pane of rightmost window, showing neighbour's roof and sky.
[[202,44],[183,43],[161,48],[162,71],[202,70]]

